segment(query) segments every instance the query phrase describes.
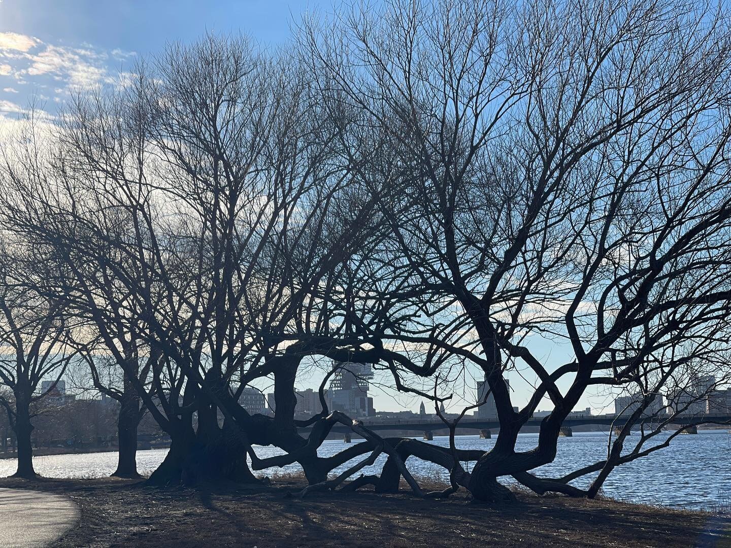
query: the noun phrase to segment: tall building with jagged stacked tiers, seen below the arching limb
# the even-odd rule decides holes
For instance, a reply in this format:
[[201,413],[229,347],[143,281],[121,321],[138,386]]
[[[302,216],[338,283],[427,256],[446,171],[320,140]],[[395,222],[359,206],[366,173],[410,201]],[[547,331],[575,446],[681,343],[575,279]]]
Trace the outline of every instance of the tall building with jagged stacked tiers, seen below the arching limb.
[[342,411],[353,417],[374,414],[373,399],[368,397],[368,381],[373,378],[373,364],[333,362],[333,378],[325,392],[331,411]]

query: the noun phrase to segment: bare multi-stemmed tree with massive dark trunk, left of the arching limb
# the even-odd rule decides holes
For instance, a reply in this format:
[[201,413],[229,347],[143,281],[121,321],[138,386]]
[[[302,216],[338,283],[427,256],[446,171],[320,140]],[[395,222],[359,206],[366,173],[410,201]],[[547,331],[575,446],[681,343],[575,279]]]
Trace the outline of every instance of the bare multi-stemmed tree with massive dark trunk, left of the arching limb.
[[[338,351],[333,324],[350,330],[323,296],[368,209],[319,110],[291,56],[207,37],[139,66],[129,88],[78,96],[52,159],[7,167],[7,220],[63,266],[62,293],[173,440],[153,482],[251,480],[252,441],[299,450],[318,481],[330,469],[327,432],[297,433],[294,383],[303,357]],[[151,367],[127,355],[135,341]],[[264,376],[273,419],[237,401]]]

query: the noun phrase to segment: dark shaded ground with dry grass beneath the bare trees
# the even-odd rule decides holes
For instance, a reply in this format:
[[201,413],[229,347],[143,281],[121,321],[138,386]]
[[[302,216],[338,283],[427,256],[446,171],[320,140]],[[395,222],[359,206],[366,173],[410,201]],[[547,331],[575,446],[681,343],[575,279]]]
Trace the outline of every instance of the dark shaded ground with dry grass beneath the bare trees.
[[379,495],[290,496],[297,478],[270,487],[144,487],[121,479],[0,479],[0,487],[63,493],[80,521],[56,547],[658,547],[729,548],[731,522],[707,512],[616,501],[539,498],[513,505],[472,504],[463,490],[423,501],[404,491]]

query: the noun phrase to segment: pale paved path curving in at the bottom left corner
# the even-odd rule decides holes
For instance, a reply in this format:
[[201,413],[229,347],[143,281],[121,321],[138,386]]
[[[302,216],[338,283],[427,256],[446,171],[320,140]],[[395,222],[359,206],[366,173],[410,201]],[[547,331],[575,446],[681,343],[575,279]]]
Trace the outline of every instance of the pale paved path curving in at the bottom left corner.
[[79,517],[74,503],[61,495],[0,489],[0,547],[48,546]]

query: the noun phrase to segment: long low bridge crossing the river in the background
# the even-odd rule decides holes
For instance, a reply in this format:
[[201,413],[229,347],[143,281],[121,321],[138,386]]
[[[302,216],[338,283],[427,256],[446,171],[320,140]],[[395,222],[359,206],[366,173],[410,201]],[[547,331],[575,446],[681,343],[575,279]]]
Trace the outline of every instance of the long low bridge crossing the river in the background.
[[[526,421],[523,426],[534,426],[539,427],[545,417],[534,417]],[[611,425],[614,427],[624,426],[629,419],[629,416],[616,416],[616,415],[582,415],[582,416],[569,416],[564,419],[561,424],[564,428],[571,428],[581,425]],[[657,415],[654,417],[647,416],[637,421],[637,425],[640,422],[645,424],[657,425],[660,422],[664,422],[668,419],[667,415]],[[699,425],[699,424],[719,424],[719,425],[731,425],[731,415],[678,415],[673,417],[670,424],[678,426],[688,425]],[[444,425],[441,419],[434,418],[428,420],[404,420],[404,421],[390,421],[390,422],[378,422],[369,421],[363,419],[363,426],[367,427],[368,430],[417,430],[422,432],[429,432],[431,430],[446,430],[447,425]],[[500,427],[500,422],[497,419],[491,420],[461,420],[457,426],[460,429],[471,429],[471,430],[491,430]],[[300,428],[300,430],[309,430],[311,427]],[[336,433],[348,433],[351,431],[350,427],[336,423],[333,426],[332,432]]]

